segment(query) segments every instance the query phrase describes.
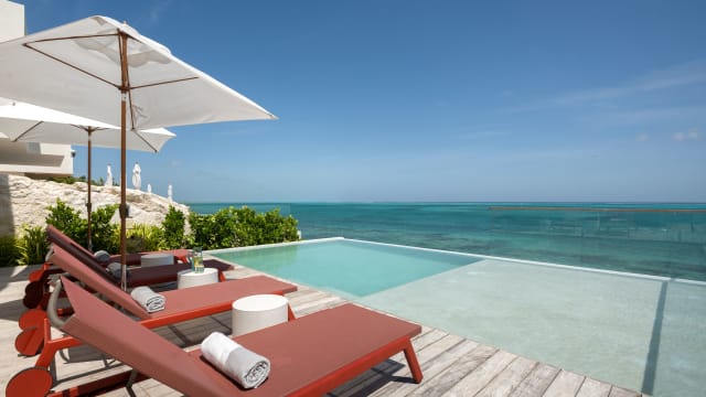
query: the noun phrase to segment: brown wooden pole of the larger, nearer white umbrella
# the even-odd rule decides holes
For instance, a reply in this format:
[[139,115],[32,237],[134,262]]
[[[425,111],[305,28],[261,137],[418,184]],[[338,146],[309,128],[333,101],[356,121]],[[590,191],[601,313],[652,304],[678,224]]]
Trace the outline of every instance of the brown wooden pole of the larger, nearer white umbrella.
[[127,194],[126,194],[126,119],[127,119],[127,96],[129,88],[128,82],[128,36],[122,32],[118,32],[120,39],[120,69],[122,75],[122,85],[120,86],[120,272],[121,280],[120,287],[124,291],[128,289],[128,273],[127,273],[127,229],[126,222],[128,216],[127,208]]

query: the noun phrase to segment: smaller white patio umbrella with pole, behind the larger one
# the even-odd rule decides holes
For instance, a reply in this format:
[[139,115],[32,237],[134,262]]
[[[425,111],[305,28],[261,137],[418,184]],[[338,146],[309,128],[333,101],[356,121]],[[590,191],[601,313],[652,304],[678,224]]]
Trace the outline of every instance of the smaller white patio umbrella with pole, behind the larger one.
[[[60,144],[81,144],[88,147],[88,249],[90,242],[90,201],[92,148],[120,148],[120,127],[95,121],[85,117],[43,108],[30,104],[0,97],[0,133],[13,142],[42,142]],[[130,130],[127,133],[128,150],[159,152],[168,140],[175,135],[164,128],[145,131]]]

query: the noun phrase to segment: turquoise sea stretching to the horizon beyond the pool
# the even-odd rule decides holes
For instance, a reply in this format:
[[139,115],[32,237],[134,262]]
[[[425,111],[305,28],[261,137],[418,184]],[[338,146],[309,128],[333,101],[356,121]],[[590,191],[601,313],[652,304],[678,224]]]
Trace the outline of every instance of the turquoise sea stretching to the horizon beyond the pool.
[[279,208],[302,238],[342,236],[706,281],[706,204],[192,203]]

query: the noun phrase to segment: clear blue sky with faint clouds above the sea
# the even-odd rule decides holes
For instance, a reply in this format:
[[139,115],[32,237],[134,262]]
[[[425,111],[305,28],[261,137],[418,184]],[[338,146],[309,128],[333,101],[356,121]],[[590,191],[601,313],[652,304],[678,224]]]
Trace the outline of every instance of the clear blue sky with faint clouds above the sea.
[[127,21],[279,117],[128,153],[178,201],[706,202],[705,1],[20,2],[29,33]]

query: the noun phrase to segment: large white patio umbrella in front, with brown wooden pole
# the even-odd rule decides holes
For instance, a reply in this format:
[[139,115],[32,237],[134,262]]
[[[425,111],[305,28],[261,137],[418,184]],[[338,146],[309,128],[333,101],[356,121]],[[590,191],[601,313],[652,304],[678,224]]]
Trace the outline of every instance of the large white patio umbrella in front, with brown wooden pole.
[[86,18],[0,43],[0,96],[121,127],[124,288],[126,130],[275,118],[176,58],[165,46],[106,17]]

